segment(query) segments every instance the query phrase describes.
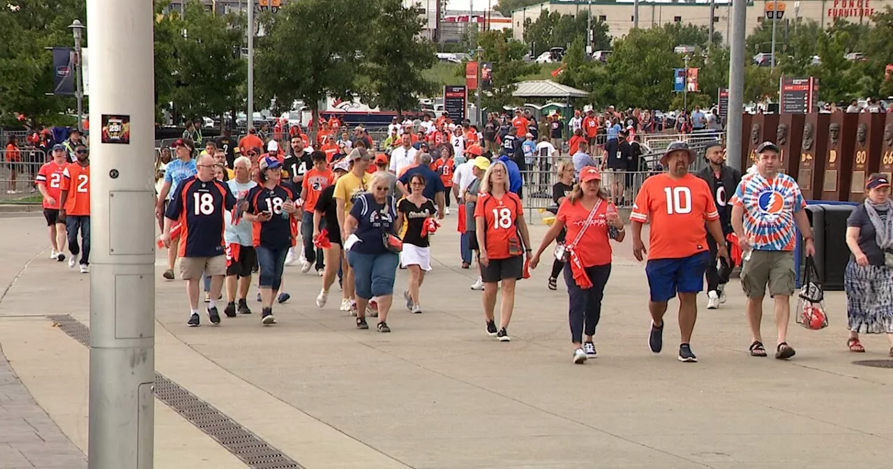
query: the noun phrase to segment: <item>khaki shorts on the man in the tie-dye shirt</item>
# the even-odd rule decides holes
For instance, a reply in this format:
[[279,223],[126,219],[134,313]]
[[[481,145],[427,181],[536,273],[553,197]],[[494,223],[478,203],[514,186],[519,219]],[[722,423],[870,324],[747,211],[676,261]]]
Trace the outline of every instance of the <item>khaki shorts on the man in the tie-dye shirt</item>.
[[797,285],[794,283],[793,251],[754,251],[741,269],[741,288],[748,298],[766,295],[790,297]]

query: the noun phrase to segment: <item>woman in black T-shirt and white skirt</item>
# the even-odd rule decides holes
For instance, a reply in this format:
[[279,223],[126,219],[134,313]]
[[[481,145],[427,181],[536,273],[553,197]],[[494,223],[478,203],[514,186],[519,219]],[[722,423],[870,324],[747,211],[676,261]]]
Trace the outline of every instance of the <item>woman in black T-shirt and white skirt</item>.
[[405,223],[406,226],[400,264],[409,269],[409,285],[403,296],[406,299],[406,308],[418,314],[421,313],[419,289],[425,281],[425,272],[431,270],[428,223],[433,220],[432,217],[437,209],[434,207],[434,202],[421,195],[421,191],[425,188],[424,176],[419,173],[413,174],[409,179],[409,186],[413,191],[409,197],[397,203],[396,210],[400,224]]

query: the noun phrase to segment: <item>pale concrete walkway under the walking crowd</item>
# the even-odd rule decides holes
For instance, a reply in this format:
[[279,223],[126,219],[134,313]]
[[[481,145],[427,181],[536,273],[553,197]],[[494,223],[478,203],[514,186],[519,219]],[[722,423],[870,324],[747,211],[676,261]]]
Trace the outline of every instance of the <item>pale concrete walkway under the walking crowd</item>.
[[[447,226],[453,222],[455,215]],[[43,316],[88,324],[88,281],[38,255],[43,225],[0,224],[0,243],[17,247],[0,265],[0,289],[14,279],[0,303],[0,344],[83,451],[86,348]],[[532,231],[538,240],[545,228]],[[316,308],[319,278],[295,267],[285,281],[292,299],[274,309],[276,327],[259,324],[252,291],[252,316],[189,329],[182,283],[161,280],[159,255],[157,370],[310,469],[889,466],[893,370],[851,363],[885,358],[887,341],[865,339],[864,356],[847,352],[841,293],[828,294],[829,329],[791,326],[797,357],[782,363],[747,356],[744,299],[730,285],[722,309],[701,311],[692,344],[700,363],[680,364],[673,314],[666,350],[647,350],[647,284],[627,242],[615,250],[599,357],[580,366],[571,364],[563,282],[547,289],[547,262],[520,284],[513,341],[500,343],[484,333],[480,294],[468,289],[475,275],[458,267],[455,232],[436,238],[425,313],[396,306],[391,334],[356,331],[337,311],[337,289],[329,306]],[[397,289],[405,281],[399,272]],[[156,467],[245,467],[168,407],[155,408]],[[8,465],[3,455],[0,467]]]

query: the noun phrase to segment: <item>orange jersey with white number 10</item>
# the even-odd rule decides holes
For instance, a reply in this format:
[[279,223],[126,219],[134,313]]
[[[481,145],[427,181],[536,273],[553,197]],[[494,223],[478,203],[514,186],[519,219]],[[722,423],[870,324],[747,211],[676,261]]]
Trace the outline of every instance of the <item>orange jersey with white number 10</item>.
[[638,189],[630,220],[651,221],[648,259],[679,259],[707,250],[705,221],[718,220],[705,180],[686,174],[678,180],[663,173]]

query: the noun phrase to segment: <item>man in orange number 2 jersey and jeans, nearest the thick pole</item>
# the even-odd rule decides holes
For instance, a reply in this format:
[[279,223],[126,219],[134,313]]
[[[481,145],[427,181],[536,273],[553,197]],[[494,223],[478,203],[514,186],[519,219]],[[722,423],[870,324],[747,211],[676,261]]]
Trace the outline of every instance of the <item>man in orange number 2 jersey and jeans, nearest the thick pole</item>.
[[[68,266],[78,264],[80,273],[90,272],[90,151],[84,145],[74,148],[76,161],[65,166],[59,188],[59,221],[68,230]],[[78,231],[80,241],[78,244]]]

